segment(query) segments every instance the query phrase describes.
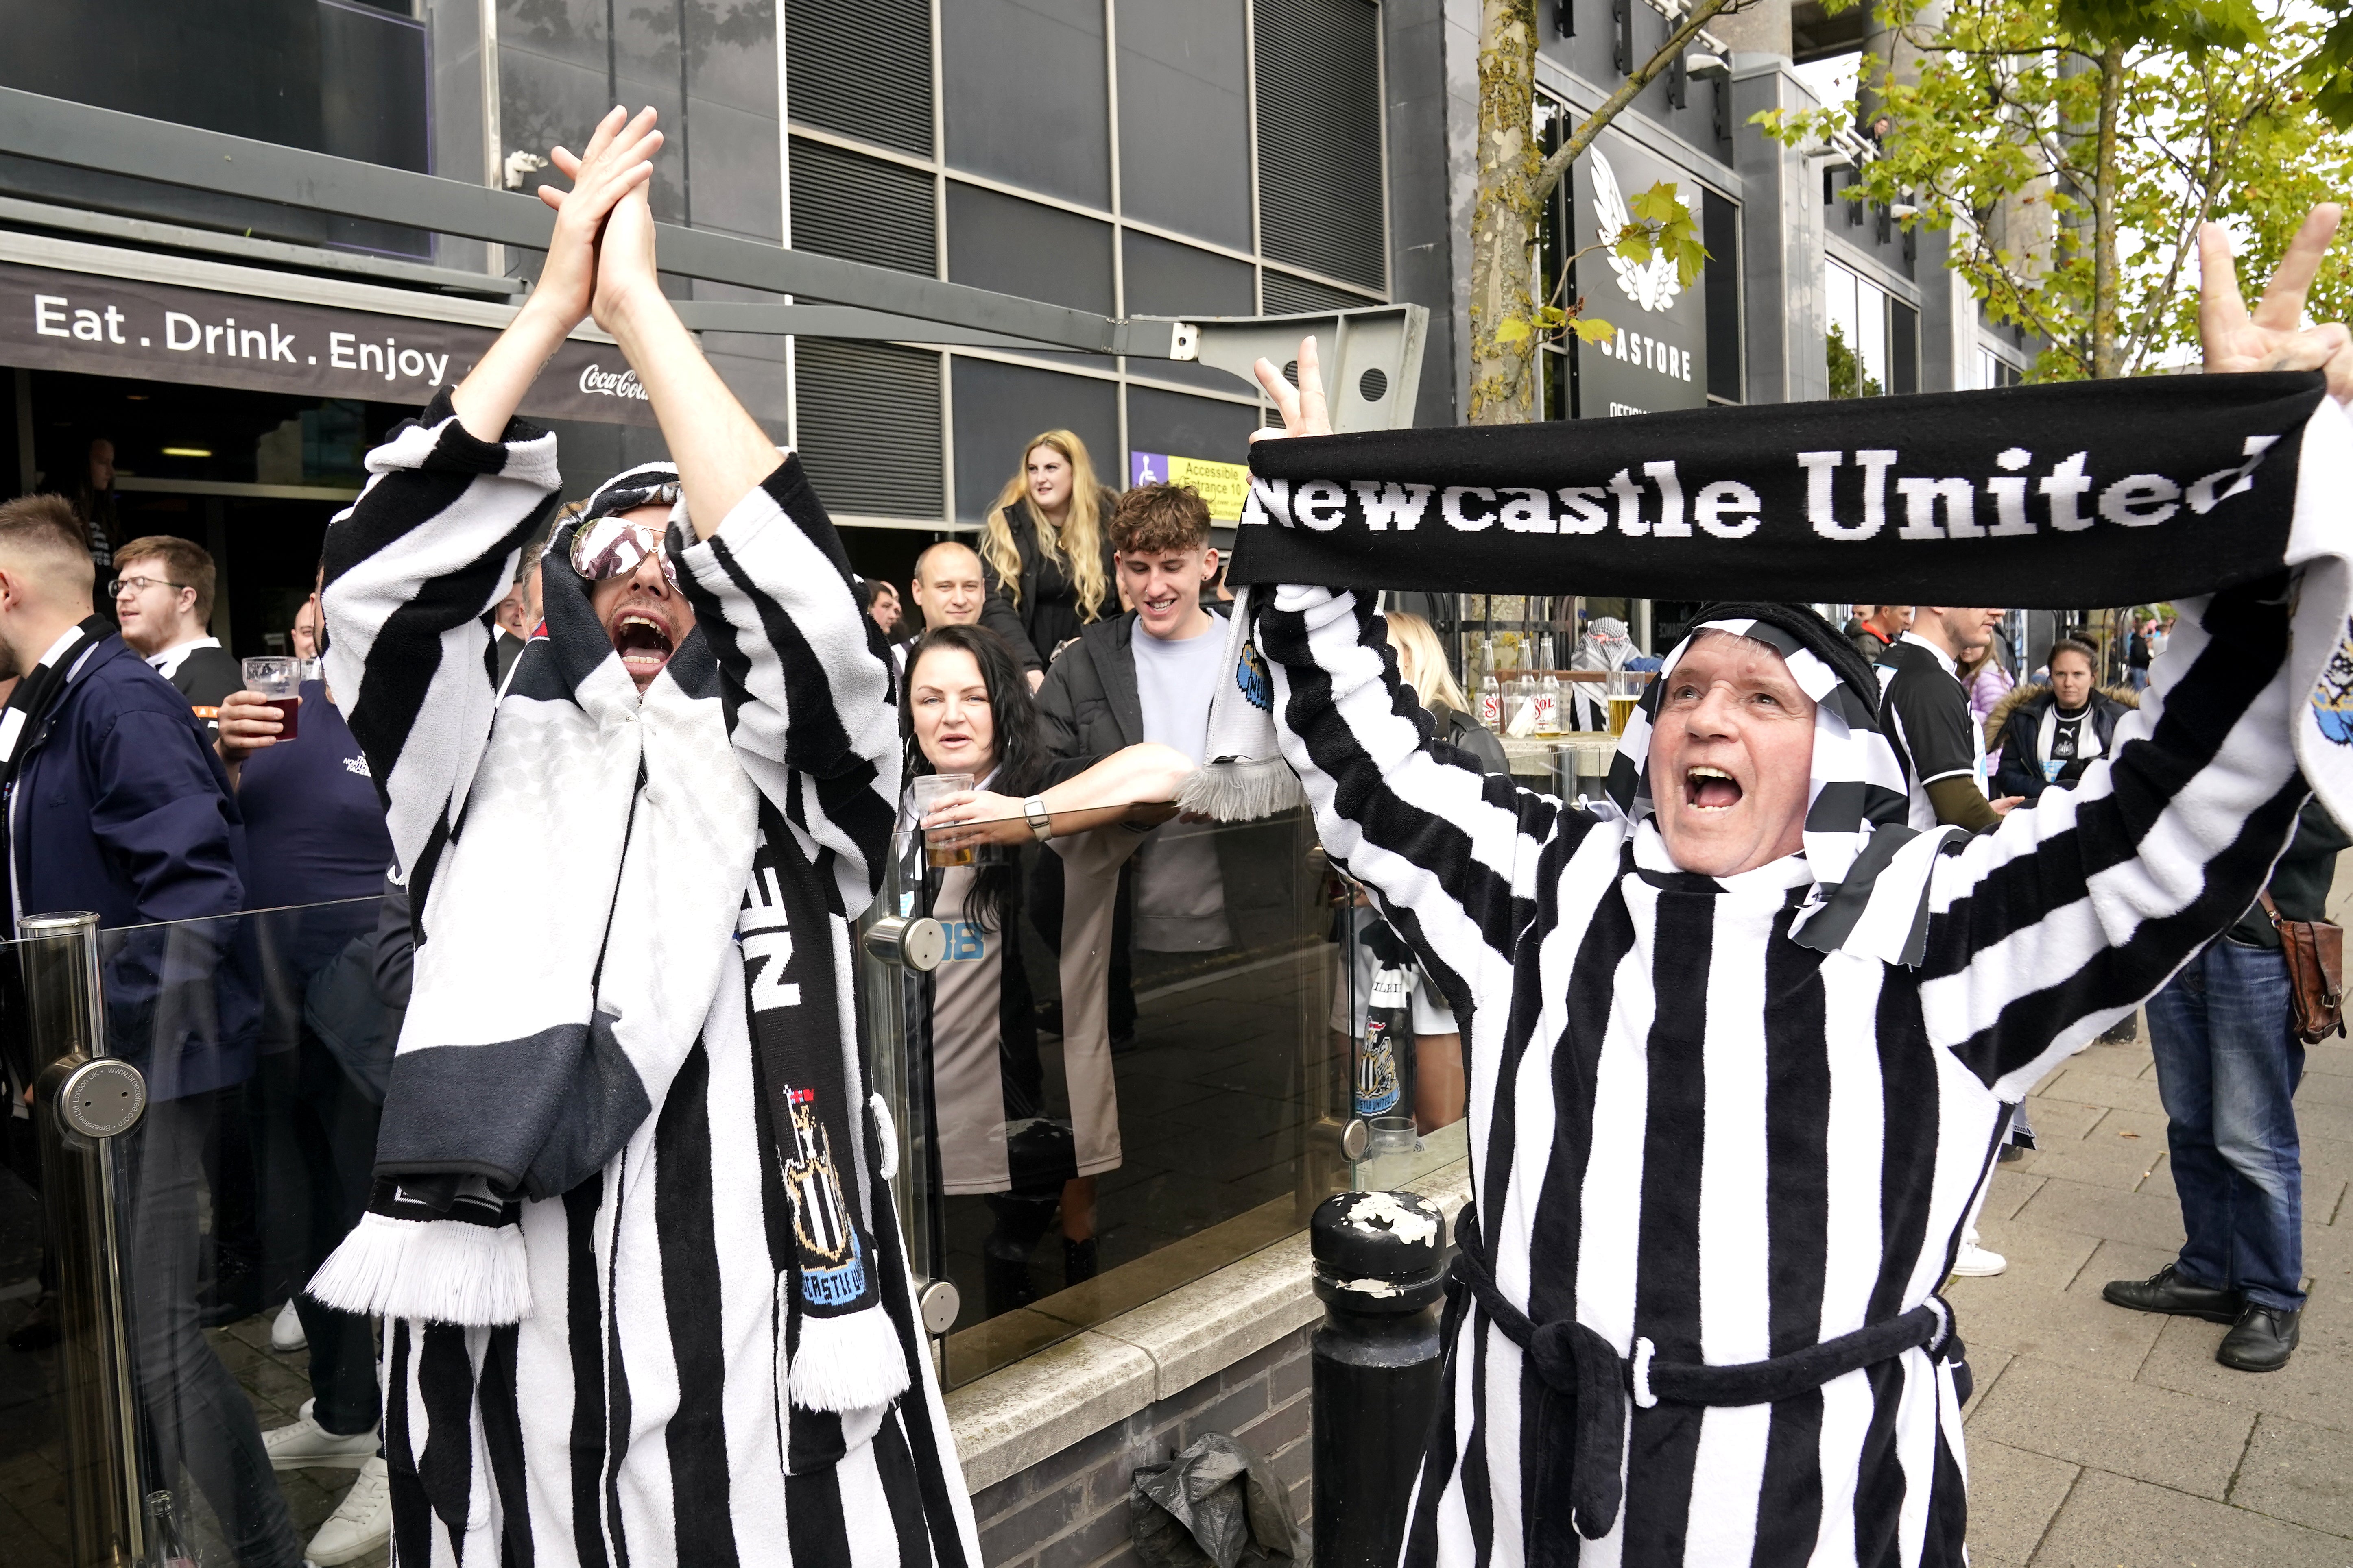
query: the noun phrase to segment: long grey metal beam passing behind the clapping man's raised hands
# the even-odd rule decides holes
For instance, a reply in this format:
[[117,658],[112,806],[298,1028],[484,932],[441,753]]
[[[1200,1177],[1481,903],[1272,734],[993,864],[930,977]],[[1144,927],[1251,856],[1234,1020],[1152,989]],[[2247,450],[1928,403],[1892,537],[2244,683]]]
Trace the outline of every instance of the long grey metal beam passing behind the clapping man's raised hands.
[[[555,223],[546,202],[532,195],[169,125],[14,87],[0,87],[0,153],[525,249],[546,249]],[[1115,324],[1092,310],[894,273],[861,261],[788,252],[706,228],[659,223],[656,235],[664,273],[998,331],[1054,348],[1122,353],[1115,346]]]

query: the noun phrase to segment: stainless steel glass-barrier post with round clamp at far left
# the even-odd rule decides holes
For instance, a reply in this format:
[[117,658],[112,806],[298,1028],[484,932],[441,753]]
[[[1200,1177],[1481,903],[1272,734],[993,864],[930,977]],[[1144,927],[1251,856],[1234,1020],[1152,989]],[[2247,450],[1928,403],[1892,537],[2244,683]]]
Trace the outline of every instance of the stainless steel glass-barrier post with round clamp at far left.
[[146,1561],[146,1516],[108,1145],[139,1124],[146,1079],[106,1051],[99,917],[33,914],[16,922],[16,938],[56,1258],[68,1554],[75,1568],[129,1568]]

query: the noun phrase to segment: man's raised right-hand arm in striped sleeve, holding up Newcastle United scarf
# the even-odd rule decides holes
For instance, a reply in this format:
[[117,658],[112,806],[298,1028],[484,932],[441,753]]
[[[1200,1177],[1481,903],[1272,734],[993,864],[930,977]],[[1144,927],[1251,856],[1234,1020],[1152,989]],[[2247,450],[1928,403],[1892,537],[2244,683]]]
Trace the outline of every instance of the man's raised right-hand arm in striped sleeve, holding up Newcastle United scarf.
[[[2346,329],[2301,327],[2337,216],[2313,209],[2252,315],[2221,230],[2200,235],[2209,371],[2318,369],[2334,400],[2353,395]],[[2325,559],[2348,555],[2353,534],[2353,425],[2334,400],[2297,454],[2287,559],[2315,564],[2184,599],[2115,745],[2073,790],[2045,790],[1937,865],[1927,1030],[2002,1098],[2162,987],[2254,903],[2294,835],[2311,795],[2294,733],[2348,611],[2346,567]]]

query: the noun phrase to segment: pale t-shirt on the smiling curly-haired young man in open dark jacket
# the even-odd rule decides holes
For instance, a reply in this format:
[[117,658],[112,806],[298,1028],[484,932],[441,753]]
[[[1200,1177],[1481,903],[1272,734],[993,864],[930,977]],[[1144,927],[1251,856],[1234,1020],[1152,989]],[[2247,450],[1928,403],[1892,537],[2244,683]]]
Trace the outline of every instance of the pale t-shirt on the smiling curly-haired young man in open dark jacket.
[[[1209,696],[1226,668],[1226,618],[1212,614],[1198,637],[1167,642],[1146,632],[1139,618],[1129,646],[1136,654],[1144,738],[1172,745],[1200,764],[1209,748]],[[1217,870],[1212,832],[1214,823],[1167,823],[1136,851],[1139,947],[1207,952],[1233,945],[1226,879]]]

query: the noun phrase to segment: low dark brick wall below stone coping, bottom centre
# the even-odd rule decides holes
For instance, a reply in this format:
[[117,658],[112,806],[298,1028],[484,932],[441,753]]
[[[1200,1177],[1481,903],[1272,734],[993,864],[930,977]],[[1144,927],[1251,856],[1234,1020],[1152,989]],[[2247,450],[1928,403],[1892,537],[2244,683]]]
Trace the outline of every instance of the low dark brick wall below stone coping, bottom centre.
[[974,1493],[981,1563],[1132,1568],[1127,1479],[1139,1465],[1176,1458],[1202,1432],[1224,1432],[1273,1460],[1275,1474],[1292,1488],[1292,1514],[1311,1528],[1308,1333],[1313,1328],[1287,1333],[1214,1378]]

